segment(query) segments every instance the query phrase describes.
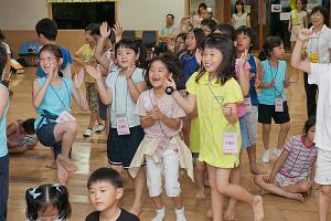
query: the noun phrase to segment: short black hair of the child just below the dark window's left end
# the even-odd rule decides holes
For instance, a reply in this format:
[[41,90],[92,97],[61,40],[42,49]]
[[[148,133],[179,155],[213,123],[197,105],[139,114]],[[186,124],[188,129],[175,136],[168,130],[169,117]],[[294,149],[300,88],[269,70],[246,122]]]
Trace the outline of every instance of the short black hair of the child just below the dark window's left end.
[[55,21],[45,18],[36,22],[35,32],[40,36],[44,35],[50,41],[55,41],[57,36],[57,24]]

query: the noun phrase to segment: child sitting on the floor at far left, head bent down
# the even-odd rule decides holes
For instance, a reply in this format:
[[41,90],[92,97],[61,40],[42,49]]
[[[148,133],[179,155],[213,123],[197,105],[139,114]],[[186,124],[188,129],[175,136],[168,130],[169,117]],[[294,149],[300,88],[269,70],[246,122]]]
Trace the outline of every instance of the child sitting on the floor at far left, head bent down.
[[34,118],[18,119],[7,126],[7,145],[10,154],[24,152],[33,149],[38,140],[29,135],[34,135]]

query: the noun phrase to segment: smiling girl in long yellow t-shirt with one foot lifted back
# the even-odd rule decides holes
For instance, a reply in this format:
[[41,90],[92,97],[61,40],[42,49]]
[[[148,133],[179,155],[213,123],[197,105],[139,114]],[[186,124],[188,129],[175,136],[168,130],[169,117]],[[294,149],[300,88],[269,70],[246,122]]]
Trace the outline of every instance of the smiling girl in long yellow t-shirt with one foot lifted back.
[[204,69],[194,73],[186,83],[186,98],[175,91],[173,80],[167,85],[172,87],[173,98],[186,113],[192,113],[195,106],[197,108],[201,131],[199,159],[207,165],[213,219],[222,220],[225,194],[249,203],[255,221],[263,220],[261,198],[229,183],[231,171],[239,164],[241,134],[236,104],[243,102],[242,90],[233,77],[233,42],[226,36],[209,36],[202,61]]

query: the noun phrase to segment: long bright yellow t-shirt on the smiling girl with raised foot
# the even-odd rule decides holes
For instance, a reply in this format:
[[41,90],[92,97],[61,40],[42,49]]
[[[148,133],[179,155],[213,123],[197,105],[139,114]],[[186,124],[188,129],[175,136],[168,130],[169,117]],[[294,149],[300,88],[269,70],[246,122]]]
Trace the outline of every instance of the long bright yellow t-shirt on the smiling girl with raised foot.
[[224,85],[209,82],[210,73],[205,72],[195,82],[195,72],[186,83],[186,90],[195,96],[200,124],[200,156],[199,159],[217,168],[234,168],[239,165],[241,130],[239,123],[233,126],[237,133],[237,152],[223,154],[223,131],[228,125],[222,107],[226,104],[243,102],[243,93],[237,81],[228,80]]

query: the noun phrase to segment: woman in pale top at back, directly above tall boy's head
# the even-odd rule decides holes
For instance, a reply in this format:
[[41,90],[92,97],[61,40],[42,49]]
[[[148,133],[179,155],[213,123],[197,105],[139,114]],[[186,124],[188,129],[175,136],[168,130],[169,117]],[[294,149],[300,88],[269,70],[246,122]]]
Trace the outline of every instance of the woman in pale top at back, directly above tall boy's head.
[[232,14],[231,24],[237,29],[242,25],[250,27],[250,15],[244,11],[244,2],[237,0],[235,3],[235,12]]

